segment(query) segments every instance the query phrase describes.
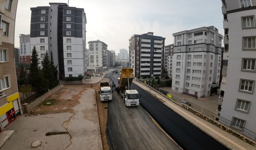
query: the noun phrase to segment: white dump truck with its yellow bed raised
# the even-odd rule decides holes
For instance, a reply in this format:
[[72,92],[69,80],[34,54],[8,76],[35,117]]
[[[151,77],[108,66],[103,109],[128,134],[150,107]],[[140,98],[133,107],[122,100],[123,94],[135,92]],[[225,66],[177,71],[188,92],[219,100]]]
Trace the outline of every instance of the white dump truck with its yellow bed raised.
[[123,99],[125,106],[137,106],[140,104],[138,91],[130,89],[133,80],[132,70],[133,68],[122,68],[121,76],[118,78],[116,90]]

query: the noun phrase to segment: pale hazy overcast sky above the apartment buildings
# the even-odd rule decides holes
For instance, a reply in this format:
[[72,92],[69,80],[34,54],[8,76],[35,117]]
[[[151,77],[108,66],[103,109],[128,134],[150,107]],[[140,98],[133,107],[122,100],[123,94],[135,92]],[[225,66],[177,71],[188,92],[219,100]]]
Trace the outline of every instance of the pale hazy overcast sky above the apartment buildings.
[[[15,47],[19,34],[30,34],[30,7],[49,6],[49,2],[68,0],[18,0]],[[108,50],[127,49],[134,34],[154,32],[173,43],[172,33],[215,26],[224,34],[220,0],[69,0],[69,6],[84,8],[87,18],[86,43],[101,40]]]

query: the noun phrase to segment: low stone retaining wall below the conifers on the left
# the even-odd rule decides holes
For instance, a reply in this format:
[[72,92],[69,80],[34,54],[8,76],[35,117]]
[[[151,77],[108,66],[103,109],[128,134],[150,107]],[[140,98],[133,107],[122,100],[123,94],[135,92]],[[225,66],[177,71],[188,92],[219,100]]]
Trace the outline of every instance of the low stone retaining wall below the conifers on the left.
[[49,90],[47,93],[43,94],[42,96],[38,97],[35,101],[28,104],[22,104],[24,108],[24,113],[29,113],[31,110],[33,110],[37,105],[41,104],[43,101],[45,101],[49,96],[52,94],[58,92],[61,89],[61,85],[58,85],[57,87],[54,87],[53,89]]

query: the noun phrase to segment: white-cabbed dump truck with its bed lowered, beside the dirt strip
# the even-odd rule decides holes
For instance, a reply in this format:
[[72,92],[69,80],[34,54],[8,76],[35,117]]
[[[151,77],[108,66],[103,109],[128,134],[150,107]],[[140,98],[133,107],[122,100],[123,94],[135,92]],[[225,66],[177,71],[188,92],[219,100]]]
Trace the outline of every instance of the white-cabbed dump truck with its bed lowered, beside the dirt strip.
[[109,101],[112,100],[111,87],[108,82],[100,83],[100,101]]

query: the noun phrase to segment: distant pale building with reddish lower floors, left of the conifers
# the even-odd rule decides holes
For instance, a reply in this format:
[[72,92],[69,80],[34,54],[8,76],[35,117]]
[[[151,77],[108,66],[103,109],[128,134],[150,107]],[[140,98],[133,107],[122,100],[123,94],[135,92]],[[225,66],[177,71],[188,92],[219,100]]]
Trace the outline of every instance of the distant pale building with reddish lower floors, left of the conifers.
[[20,62],[30,63],[30,35],[20,34]]

